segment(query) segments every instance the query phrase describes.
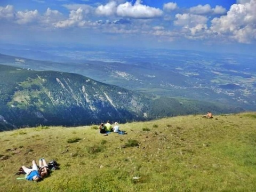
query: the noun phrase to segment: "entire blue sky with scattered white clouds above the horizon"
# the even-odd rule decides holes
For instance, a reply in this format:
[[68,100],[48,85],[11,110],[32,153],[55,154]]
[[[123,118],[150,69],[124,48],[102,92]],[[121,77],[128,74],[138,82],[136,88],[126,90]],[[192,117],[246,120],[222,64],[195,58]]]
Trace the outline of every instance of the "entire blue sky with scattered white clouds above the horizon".
[[0,43],[254,54],[256,0],[1,0]]

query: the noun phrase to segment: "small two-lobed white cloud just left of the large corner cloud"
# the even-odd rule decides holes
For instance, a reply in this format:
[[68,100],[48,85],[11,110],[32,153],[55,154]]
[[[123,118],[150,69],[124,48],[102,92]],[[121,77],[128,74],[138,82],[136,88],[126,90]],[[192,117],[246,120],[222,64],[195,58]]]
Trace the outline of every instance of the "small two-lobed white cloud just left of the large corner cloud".
[[220,5],[216,5],[215,8],[211,8],[209,4],[206,5],[197,5],[190,7],[189,12],[193,14],[224,14],[226,9]]

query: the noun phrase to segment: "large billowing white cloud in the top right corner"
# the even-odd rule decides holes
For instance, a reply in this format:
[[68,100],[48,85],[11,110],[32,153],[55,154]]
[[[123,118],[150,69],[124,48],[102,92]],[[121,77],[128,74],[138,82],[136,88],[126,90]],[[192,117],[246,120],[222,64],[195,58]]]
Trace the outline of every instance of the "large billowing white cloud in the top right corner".
[[[242,1],[239,1],[242,2]],[[230,37],[240,43],[251,43],[256,39],[256,1],[234,4],[227,15],[214,18],[211,30],[214,34]]]

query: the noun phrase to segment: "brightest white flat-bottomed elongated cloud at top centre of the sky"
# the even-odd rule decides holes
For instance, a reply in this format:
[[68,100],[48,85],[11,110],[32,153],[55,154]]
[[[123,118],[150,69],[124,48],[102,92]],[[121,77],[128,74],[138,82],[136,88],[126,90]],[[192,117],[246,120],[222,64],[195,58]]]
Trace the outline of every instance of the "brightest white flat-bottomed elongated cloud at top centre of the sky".
[[163,14],[163,11],[154,7],[142,5],[140,0],[137,0],[134,5],[130,2],[118,5],[116,13],[120,17],[149,19],[160,17]]

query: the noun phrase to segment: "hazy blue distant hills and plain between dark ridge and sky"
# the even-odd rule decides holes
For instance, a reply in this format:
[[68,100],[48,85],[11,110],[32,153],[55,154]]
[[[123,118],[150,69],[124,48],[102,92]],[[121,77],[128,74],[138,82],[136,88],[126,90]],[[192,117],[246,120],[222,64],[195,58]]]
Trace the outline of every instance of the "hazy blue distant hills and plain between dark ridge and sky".
[[13,55],[0,54],[3,65],[76,73],[140,93],[256,110],[256,58],[251,55],[113,47],[30,47],[3,52]]

